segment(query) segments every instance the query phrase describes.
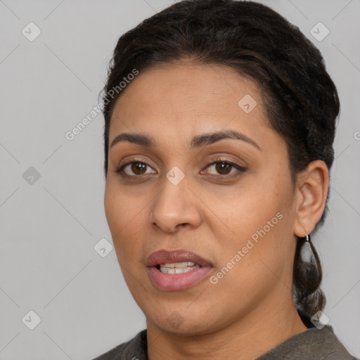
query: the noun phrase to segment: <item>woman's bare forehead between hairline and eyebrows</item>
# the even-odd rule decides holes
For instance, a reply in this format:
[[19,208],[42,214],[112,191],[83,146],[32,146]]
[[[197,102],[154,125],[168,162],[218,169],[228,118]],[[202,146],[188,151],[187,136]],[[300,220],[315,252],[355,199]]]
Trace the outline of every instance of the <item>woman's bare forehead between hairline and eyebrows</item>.
[[252,132],[267,127],[256,82],[224,65],[157,65],[123,90],[111,118],[110,141],[121,131],[180,136],[228,125]]

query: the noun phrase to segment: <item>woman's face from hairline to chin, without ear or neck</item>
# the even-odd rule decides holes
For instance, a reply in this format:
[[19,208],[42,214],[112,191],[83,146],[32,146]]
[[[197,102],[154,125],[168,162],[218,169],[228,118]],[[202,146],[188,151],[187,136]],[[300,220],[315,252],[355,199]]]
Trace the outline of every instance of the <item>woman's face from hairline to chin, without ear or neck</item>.
[[109,143],[105,213],[149,324],[208,333],[292,302],[295,190],[255,82],[221,65],[140,72]]

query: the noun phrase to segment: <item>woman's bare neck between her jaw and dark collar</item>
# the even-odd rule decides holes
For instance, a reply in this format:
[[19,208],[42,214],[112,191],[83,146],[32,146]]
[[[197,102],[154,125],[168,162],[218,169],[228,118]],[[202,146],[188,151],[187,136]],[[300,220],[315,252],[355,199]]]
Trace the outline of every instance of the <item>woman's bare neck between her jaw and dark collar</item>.
[[286,303],[278,302],[274,307],[264,302],[229,326],[202,335],[170,333],[147,321],[148,359],[221,360],[236,354],[238,359],[254,360],[304,330],[307,327],[292,299],[290,304],[287,299]]

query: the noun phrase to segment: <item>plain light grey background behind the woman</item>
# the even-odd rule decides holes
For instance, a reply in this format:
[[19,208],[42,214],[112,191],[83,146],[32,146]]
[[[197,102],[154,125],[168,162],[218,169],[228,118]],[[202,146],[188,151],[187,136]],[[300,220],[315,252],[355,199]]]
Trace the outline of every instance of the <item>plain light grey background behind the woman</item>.
[[[98,104],[118,37],[172,2],[0,0],[1,360],[88,360],[146,327],[115,250],[105,257],[94,250],[101,238],[112,243],[103,210],[103,117],[72,141],[65,133]],[[319,47],[338,86],[330,212],[314,241],[324,313],[360,357],[360,3],[262,2]],[[41,30],[34,41],[22,34],[30,22]],[[310,33],[319,22],[330,30],[322,41]],[[34,330],[30,310],[41,318]]]

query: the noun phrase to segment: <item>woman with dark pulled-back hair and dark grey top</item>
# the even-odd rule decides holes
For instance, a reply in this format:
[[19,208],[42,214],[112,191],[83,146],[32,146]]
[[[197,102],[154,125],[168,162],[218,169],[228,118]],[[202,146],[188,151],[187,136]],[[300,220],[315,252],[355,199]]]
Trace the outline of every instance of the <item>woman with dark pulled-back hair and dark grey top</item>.
[[180,1],[119,39],[104,90],[105,214],[147,328],[97,360],[354,359],[310,237],[340,104],[297,27]]

